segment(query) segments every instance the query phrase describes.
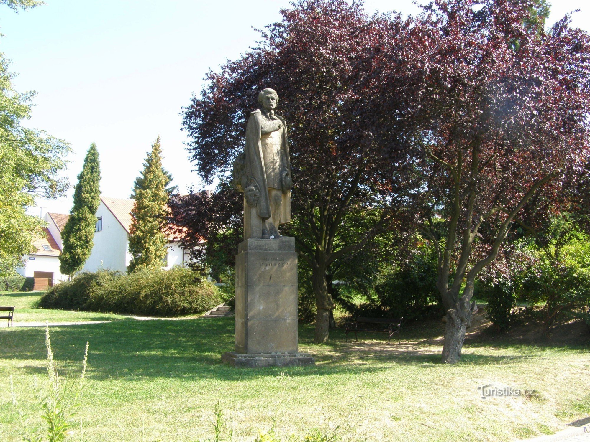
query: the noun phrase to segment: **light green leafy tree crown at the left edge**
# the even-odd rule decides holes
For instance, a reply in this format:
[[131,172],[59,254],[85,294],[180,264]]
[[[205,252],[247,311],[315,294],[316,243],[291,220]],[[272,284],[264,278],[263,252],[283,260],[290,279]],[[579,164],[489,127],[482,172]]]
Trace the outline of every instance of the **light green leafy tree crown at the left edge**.
[[[25,3],[32,4],[8,2]],[[42,221],[27,215],[27,208],[35,205],[37,195],[51,199],[65,192],[68,183],[57,174],[70,151],[63,140],[21,126],[30,118],[34,94],[14,90],[8,64],[0,54],[0,275],[14,273],[23,265],[23,256],[32,252]]]

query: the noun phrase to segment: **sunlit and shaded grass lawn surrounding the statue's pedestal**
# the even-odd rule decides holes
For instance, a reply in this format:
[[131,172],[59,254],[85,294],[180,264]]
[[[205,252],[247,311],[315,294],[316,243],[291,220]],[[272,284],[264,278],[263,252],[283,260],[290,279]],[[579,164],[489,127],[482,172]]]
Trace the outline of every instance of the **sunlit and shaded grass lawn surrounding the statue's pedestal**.
[[[233,349],[232,318],[56,326],[51,342],[61,372],[79,376],[90,341],[70,440],[212,437],[217,401],[234,440],[248,441],[273,422],[281,437],[341,425],[353,441],[509,441],[590,415],[590,345],[468,338],[450,366],[439,362],[441,331],[439,322],[413,326],[401,345],[379,335],[346,343],[332,331],[329,344],[315,345],[313,327],[301,325],[300,351],[316,356],[314,367],[255,370],[220,363]],[[44,329],[2,328],[0,349],[0,440],[17,441],[21,426],[42,425],[35,384],[47,384]],[[538,395],[481,399],[477,387],[490,382]]]

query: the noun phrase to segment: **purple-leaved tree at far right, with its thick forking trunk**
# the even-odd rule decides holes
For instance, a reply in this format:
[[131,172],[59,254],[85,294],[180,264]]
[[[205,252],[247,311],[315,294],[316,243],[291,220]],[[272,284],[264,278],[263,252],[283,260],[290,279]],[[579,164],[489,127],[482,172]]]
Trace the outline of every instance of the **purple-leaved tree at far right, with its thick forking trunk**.
[[[447,309],[445,362],[461,356],[473,283],[509,230],[559,210],[584,176],[590,40],[569,17],[539,32],[527,20],[532,6],[437,1],[416,22],[421,130],[412,149],[421,151],[418,218],[437,249]],[[383,54],[383,65],[395,61]]]

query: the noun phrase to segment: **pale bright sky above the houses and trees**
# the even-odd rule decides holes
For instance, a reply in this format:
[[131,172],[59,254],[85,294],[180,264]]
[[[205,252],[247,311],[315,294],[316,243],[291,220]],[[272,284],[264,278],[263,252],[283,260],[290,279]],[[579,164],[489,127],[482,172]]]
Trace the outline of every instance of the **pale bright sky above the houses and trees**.
[[[564,14],[590,32],[590,2],[554,2],[548,24]],[[255,45],[255,29],[280,21],[287,0],[45,0],[15,13],[0,6],[0,51],[17,72],[15,89],[36,91],[24,125],[71,146],[72,187],[90,143],[101,161],[101,192],[127,198],[160,136],[163,166],[181,192],[202,188],[185,150],[182,107],[199,95],[204,76]],[[419,12],[412,0],[365,0],[365,10]],[[272,87],[272,85],[269,85]],[[38,199],[30,213],[68,213],[73,189]]]

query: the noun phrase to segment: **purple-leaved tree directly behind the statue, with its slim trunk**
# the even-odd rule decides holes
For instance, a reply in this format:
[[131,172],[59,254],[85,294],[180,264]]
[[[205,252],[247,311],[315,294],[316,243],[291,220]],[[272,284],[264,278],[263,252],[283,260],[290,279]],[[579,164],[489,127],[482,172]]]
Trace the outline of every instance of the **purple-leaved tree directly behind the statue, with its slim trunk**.
[[[207,88],[185,110],[184,128],[201,177],[207,182],[224,179],[243,149],[245,122],[257,107],[258,91],[272,87],[278,92],[277,113],[289,125],[295,180],[295,219],[283,233],[295,236],[301,265],[312,270],[316,339],[324,341],[333,308],[326,272],[336,260],[395,226],[402,207],[395,203],[402,195],[396,189],[406,191],[394,183],[401,174],[392,173],[402,163],[394,154],[376,154],[372,131],[378,116],[362,110],[373,94],[362,79],[372,75],[371,60],[386,45],[409,47],[411,40],[404,38],[406,31],[399,32],[404,28],[400,18],[371,21],[358,2],[300,1],[282,14],[283,21],[261,33],[260,47],[228,62],[219,73],[209,72]],[[391,120],[389,130],[411,131],[414,123],[408,126],[407,121],[396,127]],[[225,203],[220,206],[221,200]],[[227,187],[180,201],[179,206],[172,204],[179,209],[179,225],[188,210],[195,216],[186,224],[196,234],[211,238],[226,223],[240,225],[241,195]],[[192,209],[196,206],[201,209]],[[381,216],[355,235],[346,232],[346,242],[340,240],[346,214],[366,207],[381,208]]]

